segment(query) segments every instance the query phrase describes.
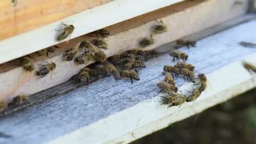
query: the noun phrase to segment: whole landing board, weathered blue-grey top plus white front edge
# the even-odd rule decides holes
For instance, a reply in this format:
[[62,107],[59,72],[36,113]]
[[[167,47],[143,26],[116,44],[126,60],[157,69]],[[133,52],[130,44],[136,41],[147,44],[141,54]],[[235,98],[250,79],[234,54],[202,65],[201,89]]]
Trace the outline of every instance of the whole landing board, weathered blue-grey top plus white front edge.
[[[208,101],[205,104],[210,107],[214,105],[211,100],[214,101],[213,99],[215,99],[211,96],[218,93],[228,92],[221,95],[221,100],[218,101],[221,102],[247,91],[253,88],[256,83],[251,81],[253,76],[243,69],[240,60],[248,59],[255,62],[256,49],[245,48],[239,45],[239,42],[255,42],[254,37],[251,37],[254,35],[254,31],[251,29],[254,28],[255,24],[255,20],[249,21],[200,40],[196,48],[180,49],[189,55],[188,62],[195,65],[197,73],[207,74],[209,80],[209,87],[195,103],[187,103],[181,107],[171,107],[169,109],[160,105],[159,96],[157,96],[159,95],[159,89],[156,87],[156,83],[163,80],[161,74],[163,66],[174,64],[171,57],[165,54],[148,61],[146,63],[147,68],[141,69],[141,80],[135,81],[133,85],[129,80],[116,81],[114,77],[107,77],[54,99],[44,101],[41,104],[27,107],[13,115],[1,117],[0,131],[4,131],[13,137],[9,139],[0,138],[0,142],[13,144],[42,143],[58,137],[59,139],[51,143],[69,143],[70,141],[76,141],[77,143],[107,142],[171,115],[173,112],[185,110],[190,105],[200,107],[197,102],[205,99]],[[253,56],[249,56],[251,54]],[[231,64],[234,61],[237,62]],[[243,85],[248,80],[250,83]],[[176,83],[178,86],[183,85],[184,80],[178,78]],[[243,88],[229,91],[237,85],[243,86]],[[140,105],[143,105],[143,107],[139,107]],[[133,109],[133,107],[136,109]],[[129,109],[132,109],[133,112],[130,111],[127,114]],[[189,116],[191,113],[195,114],[197,112],[190,110],[188,114],[176,113],[175,115]],[[122,112],[126,112],[125,115],[122,115]],[[176,120],[175,115],[172,115],[172,122]],[[157,129],[160,129],[160,127],[155,128],[155,130]],[[70,133],[71,131],[75,132]],[[63,136],[64,134],[67,135]],[[141,136],[131,139],[138,139]]]

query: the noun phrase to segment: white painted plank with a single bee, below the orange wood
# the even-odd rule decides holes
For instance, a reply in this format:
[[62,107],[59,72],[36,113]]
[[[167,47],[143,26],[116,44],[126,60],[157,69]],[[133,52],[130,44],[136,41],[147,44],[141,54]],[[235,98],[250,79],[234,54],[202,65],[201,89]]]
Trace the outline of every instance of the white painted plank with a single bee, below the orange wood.
[[72,39],[181,1],[184,0],[158,0],[157,3],[154,0],[113,0],[44,27],[0,41],[0,64],[58,44],[56,35],[59,32],[55,29],[62,28],[61,22],[75,26],[70,37]]

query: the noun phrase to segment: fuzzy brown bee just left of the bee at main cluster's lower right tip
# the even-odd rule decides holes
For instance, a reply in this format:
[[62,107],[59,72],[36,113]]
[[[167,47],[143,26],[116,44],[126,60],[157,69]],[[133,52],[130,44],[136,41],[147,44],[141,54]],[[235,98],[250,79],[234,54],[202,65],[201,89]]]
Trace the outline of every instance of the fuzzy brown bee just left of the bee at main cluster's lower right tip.
[[121,78],[117,68],[113,64],[109,63],[108,61],[104,61],[100,65],[97,65],[96,68],[100,72],[105,72],[107,75],[113,74],[116,80],[119,80]]

